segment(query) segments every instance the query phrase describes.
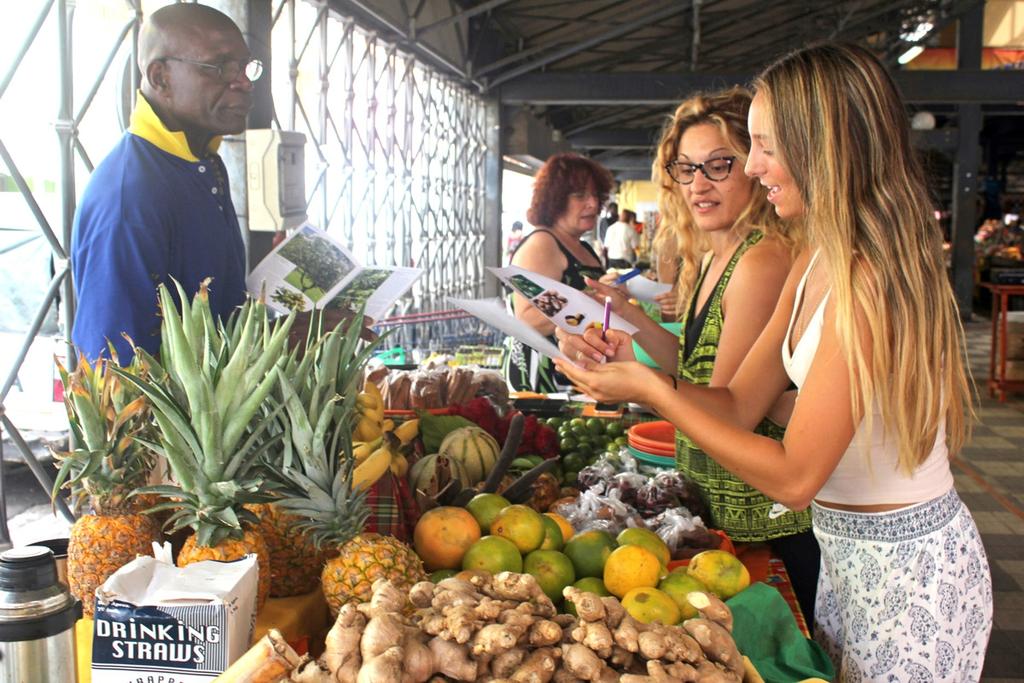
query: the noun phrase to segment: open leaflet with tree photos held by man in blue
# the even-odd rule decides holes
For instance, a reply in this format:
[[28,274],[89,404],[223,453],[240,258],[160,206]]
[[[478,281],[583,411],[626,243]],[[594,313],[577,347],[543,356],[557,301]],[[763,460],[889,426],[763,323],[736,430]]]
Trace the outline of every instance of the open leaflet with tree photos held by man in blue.
[[279,312],[354,311],[365,303],[367,317],[379,321],[421,274],[421,268],[364,267],[327,232],[304,223],[253,268],[246,287],[256,297],[265,293],[267,306]]

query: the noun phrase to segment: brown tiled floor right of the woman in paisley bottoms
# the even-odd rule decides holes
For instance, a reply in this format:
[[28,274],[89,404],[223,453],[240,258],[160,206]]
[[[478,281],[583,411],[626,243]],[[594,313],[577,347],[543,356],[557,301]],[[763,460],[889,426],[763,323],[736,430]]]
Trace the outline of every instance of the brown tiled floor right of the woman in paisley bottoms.
[[982,680],[1024,683],[1024,394],[988,396],[990,325],[967,326],[979,423],[953,460],[961,498],[974,514],[992,571],[995,615]]

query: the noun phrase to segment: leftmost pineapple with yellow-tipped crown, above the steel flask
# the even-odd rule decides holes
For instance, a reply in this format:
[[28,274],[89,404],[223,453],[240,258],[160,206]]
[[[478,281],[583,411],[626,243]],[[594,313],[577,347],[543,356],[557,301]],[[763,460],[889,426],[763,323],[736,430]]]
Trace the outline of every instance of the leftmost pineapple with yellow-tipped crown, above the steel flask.
[[[83,356],[69,373],[58,365],[65,385],[65,407],[76,447],[54,453],[60,463],[52,496],[70,487],[72,508],[91,509],[76,520],[68,542],[68,584],[91,617],[96,588],[111,574],[150,554],[160,540],[156,520],[140,513],[143,501],[131,498],[153,469],[154,453],[135,440],[147,427],[145,398],[114,376],[117,354],[90,366]],[[140,372],[137,364],[127,372]]]

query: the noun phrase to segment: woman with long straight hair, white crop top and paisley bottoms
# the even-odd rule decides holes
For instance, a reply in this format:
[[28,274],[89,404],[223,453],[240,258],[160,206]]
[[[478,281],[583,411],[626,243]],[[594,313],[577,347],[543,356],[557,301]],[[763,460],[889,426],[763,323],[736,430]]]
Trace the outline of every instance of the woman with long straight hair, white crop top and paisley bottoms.
[[[906,113],[856,46],[794,52],[756,87],[746,172],[781,218],[807,225],[809,249],[732,381],[560,365],[602,400],[653,405],[781,504],[812,508],[816,638],[840,680],[976,681],[992,593],[949,470],[971,414],[963,329]],[[625,341],[611,335],[607,350],[618,357]],[[752,434],[791,381],[785,437]]]

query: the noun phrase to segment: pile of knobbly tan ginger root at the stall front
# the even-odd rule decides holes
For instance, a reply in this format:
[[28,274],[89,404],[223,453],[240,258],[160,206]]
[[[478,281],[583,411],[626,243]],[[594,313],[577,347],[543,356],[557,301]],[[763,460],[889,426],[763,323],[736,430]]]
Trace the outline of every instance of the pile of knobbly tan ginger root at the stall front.
[[386,580],[373,598],[347,604],[316,660],[296,683],[740,683],[743,659],[732,615],[691,593],[700,611],[682,626],[641,624],[617,599],[569,587],[579,616],[559,614],[529,574],[475,572],[421,582],[408,592]]

